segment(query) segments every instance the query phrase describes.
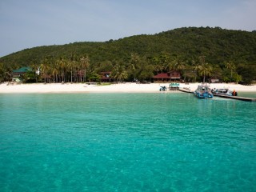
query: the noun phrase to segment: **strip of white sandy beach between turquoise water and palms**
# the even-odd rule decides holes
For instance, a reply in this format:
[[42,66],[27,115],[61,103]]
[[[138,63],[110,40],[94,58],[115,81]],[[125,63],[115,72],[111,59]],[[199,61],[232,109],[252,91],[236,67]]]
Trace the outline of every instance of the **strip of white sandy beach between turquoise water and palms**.
[[[180,83],[181,88],[196,90],[201,83]],[[86,83],[35,83],[8,85],[0,84],[0,94],[19,94],[19,93],[154,93],[159,92],[160,86],[169,86],[169,83],[150,83],[136,84],[132,82],[112,84],[108,86],[87,85]],[[256,92],[256,86],[242,86],[239,84],[211,83],[212,89],[229,88],[230,90]]]

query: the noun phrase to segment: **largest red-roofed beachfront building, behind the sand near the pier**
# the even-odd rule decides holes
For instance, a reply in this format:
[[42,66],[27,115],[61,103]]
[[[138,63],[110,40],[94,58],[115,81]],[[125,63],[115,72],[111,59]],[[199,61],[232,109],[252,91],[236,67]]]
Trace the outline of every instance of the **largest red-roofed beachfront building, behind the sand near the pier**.
[[154,82],[180,82],[180,80],[181,74],[177,70],[154,75]]

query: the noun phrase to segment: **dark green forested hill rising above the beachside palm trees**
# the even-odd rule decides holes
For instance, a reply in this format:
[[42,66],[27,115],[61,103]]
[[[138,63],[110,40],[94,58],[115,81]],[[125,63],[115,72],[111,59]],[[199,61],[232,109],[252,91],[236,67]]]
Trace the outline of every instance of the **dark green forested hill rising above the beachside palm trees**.
[[46,57],[69,58],[88,55],[91,62],[126,60],[130,54],[178,55],[190,59],[206,56],[211,63],[231,58],[237,62],[256,62],[256,33],[223,30],[220,27],[182,27],[158,34],[138,34],[106,42],[73,42],[65,45],[37,46],[0,58],[8,65],[24,66],[31,61],[42,62]]

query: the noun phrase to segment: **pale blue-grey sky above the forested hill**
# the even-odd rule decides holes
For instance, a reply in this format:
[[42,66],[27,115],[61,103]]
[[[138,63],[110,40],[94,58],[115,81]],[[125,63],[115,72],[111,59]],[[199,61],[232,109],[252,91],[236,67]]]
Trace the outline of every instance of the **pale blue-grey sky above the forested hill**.
[[256,0],[0,0],[0,57],[189,26],[256,30]]

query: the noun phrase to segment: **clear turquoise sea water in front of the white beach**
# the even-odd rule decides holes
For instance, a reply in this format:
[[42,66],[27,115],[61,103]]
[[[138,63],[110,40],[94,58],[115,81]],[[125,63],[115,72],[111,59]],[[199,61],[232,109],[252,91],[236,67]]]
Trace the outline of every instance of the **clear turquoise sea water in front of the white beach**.
[[256,191],[256,102],[0,94],[0,191]]

